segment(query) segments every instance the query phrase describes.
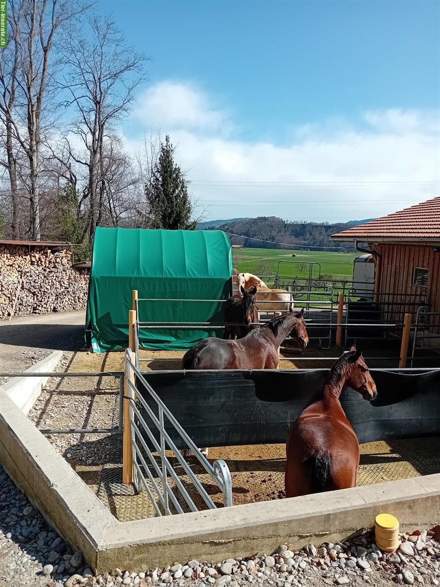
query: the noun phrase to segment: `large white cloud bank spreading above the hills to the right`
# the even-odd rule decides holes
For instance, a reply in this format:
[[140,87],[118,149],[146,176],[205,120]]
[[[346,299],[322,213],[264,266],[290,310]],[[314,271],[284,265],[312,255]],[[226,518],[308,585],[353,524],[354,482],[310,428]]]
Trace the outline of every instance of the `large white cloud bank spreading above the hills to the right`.
[[[359,220],[440,194],[438,112],[371,110],[360,113],[358,124],[311,121],[292,127],[290,145],[280,147],[233,139],[228,113],[209,96],[162,82],[140,99],[135,116],[146,128],[170,132],[207,220]],[[141,142],[141,136],[126,139],[131,150]]]

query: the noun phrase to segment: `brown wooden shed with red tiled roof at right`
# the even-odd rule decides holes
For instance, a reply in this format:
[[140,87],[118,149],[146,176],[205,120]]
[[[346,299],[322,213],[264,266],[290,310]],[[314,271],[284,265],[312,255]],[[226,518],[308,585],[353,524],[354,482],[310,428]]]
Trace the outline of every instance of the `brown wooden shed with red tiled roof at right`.
[[425,324],[440,335],[440,197],[331,238],[368,245],[376,265],[374,299],[384,318],[401,321],[407,312],[414,322],[422,307]]

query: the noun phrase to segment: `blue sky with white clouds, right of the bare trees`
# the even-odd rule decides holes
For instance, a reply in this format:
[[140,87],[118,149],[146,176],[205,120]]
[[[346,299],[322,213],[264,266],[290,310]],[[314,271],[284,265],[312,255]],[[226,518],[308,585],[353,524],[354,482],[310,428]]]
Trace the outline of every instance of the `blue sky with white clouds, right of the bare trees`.
[[439,194],[438,0],[98,6],[154,58],[127,148],[169,132],[207,220],[349,220]]

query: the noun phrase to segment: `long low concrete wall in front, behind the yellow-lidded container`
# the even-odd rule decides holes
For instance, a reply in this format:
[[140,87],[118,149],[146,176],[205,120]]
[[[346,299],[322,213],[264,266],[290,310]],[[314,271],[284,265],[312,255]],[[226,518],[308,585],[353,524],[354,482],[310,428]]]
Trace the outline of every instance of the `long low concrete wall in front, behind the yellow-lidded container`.
[[440,474],[120,523],[104,530],[97,565],[104,572],[193,558],[218,562],[268,554],[283,542],[295,548],[336,542],[370,528],[380,512],[396,515],[404,530],[431,527],[440,520]]

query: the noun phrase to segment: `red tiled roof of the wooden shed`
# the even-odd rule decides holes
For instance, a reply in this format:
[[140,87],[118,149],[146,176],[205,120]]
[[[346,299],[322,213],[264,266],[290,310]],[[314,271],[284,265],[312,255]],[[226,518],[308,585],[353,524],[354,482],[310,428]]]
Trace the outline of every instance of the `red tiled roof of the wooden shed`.
[[331,235],[335,240],[440,240],[440,197]]

